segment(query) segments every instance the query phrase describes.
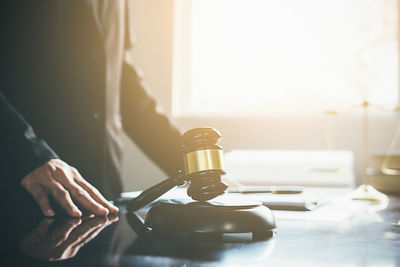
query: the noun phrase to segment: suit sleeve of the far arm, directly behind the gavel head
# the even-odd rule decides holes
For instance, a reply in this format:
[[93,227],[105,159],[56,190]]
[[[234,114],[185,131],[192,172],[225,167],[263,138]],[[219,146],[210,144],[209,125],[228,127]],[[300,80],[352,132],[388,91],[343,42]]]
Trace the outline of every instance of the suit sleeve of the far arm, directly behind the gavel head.
[[162,113],[131,64],[123,66],[121,114],[125,132],[168,175],[183,168],[181,133]]

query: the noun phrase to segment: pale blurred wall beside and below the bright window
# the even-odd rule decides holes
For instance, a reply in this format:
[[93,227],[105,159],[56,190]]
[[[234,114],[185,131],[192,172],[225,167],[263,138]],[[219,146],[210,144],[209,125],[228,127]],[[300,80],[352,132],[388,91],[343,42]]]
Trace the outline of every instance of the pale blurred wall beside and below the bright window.
[[[144,73],[154,97],[165,112],[171,112],[173,66],[173,0],[128,0],[131,4],[130,24],[136,41],[131,56]],[[229,96],[227,96],[229,97]],[[223,101],[223,99],[221,99]],[[334,149],[351,150],[355,154],[356,184],[363,173],[362,113],[332,118],[330,138]],[[190,117],[175,118],[184,131],[210,125],[223,133],[226,151],[243,149],[326,149],[326,117]],[[386,149],[399,121],[398,114],[374,113],[370,116],[372,150]],[[379,125],[379,127],[376,127]],[[125,191],[140,190],[165,179],[160,169],[124,136],[125,158],[123,181]]]

